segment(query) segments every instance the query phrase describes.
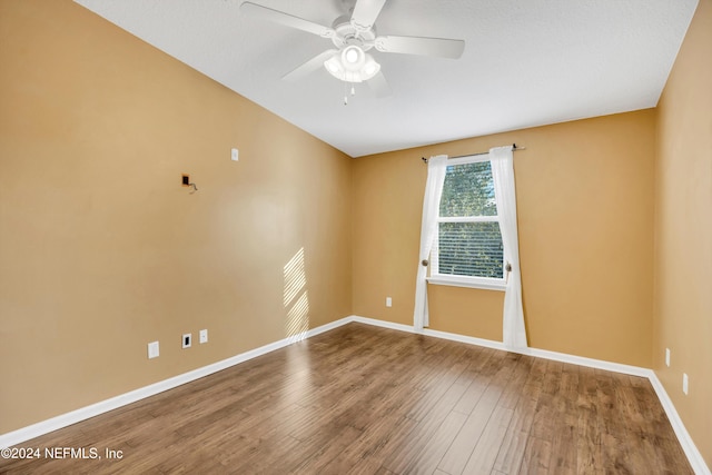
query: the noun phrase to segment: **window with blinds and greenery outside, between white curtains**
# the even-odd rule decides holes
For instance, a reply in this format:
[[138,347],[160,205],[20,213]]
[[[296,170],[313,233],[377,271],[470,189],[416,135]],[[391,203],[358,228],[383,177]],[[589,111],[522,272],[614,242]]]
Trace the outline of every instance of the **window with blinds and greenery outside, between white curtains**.
[[431,264],[433,284],[504,290],[504,246],[487,156],[448,162]]

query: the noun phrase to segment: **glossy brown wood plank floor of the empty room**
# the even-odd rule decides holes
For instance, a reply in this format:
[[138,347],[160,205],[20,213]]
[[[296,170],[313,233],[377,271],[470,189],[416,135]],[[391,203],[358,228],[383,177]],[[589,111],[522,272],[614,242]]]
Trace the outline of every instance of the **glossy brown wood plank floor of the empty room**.
[[21,446],[0,473],[692,473],[645,378],[360,324]]

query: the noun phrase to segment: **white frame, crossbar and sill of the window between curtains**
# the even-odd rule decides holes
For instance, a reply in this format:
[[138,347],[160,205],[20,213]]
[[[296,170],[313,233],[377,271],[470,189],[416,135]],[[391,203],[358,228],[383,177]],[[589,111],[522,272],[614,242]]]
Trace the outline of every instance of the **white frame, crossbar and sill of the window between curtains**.
[[[466,157],[457,157],[449,159],[447,161],[447,166],[457,166],[457,165],[467,165],[467,164],[476,164],[481,161],[491,161],[490,154],[479,154],[479,155],[469,155]],[[438,204],[439,210],[439,204]],[[452,218],[452,217],[441,217],[439,211],[436,219],[437,226],[439,228],[441,222],[500,222],[500,211],[497,210],[497,216],[469,216],[462,218]],[[500,227],[502,227],[500,225]],[[501,290],[504,291],[507,286],[507,271],[504,269],[505,263],[507,261],[507,257],[503,256],[502,267],[503,267],[503,277],[501,279],[493,277],[471,277],[471,276],[455,276],[452,274],[439,274],[437,270],[438,266],[438,234],[435,236],[435,243],[433,243],[433,250],[431,251],[431,275],[427,277],[428,284],[436,285],[447,285],[455,287],[468,287],[468,288],[479,288],[486,290]]]

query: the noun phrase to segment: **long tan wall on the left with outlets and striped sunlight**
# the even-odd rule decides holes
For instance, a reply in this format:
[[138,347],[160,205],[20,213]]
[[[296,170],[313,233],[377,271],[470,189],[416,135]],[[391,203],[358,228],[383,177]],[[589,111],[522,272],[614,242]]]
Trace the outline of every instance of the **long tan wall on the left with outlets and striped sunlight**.
[[69,0],[0,68],[0,434],[350,314],[350,158]]

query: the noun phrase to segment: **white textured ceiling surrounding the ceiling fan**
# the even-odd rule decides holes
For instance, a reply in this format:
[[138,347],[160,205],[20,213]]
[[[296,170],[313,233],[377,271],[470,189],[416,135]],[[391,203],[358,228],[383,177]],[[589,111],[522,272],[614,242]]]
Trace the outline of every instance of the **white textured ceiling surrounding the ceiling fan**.
[[[654,107],[698,0],[388,0],[379,34],[463,39],[461,59],[370,52],[393,95],[344,106],[326,70],[280,80],[330,40],[243,0],[76,0],[352,157]],[[251,0],[330,26],[348,0]]]

